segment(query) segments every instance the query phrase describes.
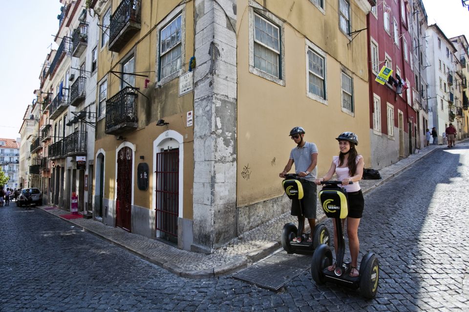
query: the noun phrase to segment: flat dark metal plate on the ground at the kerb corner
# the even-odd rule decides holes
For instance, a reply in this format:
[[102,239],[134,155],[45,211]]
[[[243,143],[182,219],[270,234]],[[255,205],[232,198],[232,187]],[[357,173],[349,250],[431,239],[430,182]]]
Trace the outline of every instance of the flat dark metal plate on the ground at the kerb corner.
[[233,275],[233,278],[278,291],[303,271],[311,268],[311,255],[281,251]]

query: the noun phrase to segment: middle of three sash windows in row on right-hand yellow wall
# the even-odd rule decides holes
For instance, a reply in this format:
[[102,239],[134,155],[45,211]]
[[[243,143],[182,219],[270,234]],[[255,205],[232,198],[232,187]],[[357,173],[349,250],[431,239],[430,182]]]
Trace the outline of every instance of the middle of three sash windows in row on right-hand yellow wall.
[[308,49],[308,92],[326,98],[324,58]]

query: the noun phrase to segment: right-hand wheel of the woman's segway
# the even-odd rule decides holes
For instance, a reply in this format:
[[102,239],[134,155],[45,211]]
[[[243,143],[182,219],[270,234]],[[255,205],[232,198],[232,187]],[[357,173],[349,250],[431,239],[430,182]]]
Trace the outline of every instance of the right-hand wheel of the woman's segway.
[[360,292],[368,299],[374,298],[378,292],[378,281],[380,279],[380,264],[373,253],[363,256],[360,264]]

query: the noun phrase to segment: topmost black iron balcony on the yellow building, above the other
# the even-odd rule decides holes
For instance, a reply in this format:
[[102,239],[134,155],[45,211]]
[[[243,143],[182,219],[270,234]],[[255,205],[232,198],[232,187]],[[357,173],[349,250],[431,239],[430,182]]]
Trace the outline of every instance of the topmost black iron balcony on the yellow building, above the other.
[[109,51],[119,52],[140,30],[141,0],[123,0],[111,15],[109,23]]

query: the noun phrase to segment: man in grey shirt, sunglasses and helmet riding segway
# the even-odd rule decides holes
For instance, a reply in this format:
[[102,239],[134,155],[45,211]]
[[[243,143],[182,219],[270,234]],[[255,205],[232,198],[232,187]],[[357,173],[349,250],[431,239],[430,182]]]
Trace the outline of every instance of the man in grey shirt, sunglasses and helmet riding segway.
[[[307,242],[312,242],[313,237],[311,236],[316,226],[317,186],[314,180],[317,175],[316,164],[318,162],[318,148],[316,144],[303,140],[304,134],[305,132],[302,127],[295,127],[290,131],[290,137],[295,141],[297,146],[290,152],[287,165],[279,176],[282,178],[285,177],[295,163],[295,173],[301,178],[300,181],[304,196],[299,200],[292,199],[291,215],[298,216],[298,233],[304,231],[304,218],[308,218],[311,234]],[[301,205],[299,201],[301,201]],[[301,242],[301,240],[301,236],[293,238],[293,241],[298,243]]]

